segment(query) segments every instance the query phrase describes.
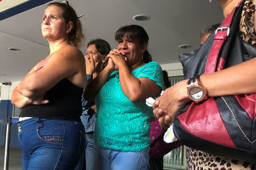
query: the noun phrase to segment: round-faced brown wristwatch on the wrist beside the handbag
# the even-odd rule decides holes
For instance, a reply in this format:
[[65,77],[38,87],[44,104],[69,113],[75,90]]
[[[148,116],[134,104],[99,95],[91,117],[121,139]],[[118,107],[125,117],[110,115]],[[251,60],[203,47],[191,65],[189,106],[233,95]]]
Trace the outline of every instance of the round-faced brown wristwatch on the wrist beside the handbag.
[[207,89],[200,83],[199,76],[189,79],[187,82],[187,88],[189,99],[196,103],[208,99]]

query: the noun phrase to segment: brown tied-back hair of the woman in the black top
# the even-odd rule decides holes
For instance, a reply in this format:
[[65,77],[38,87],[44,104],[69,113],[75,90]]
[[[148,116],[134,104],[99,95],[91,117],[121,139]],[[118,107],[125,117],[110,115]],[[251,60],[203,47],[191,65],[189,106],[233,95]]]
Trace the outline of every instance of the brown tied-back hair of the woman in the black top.
[[53,2],[49,3],[48,6],[51,5],[60,7],[62,9],[62,16],[65,19],[66,23],[73,23],[73,28],[71,32],[69,32],[68,42],[71,45],[80,47],[84,42],[84,34],[82,33],[82,24],[76,15],[76,11],[71,6],[69,6],[68,3]]

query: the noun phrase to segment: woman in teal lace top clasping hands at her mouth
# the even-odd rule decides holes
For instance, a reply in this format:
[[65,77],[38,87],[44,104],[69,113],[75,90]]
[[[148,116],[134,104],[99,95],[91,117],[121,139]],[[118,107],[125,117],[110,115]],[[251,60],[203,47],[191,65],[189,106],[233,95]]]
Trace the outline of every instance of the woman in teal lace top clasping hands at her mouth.
[[108,65],[85,92],[97,108],[94,169],[148,169],[152,108],[145,101],[164,90],[162,69],[151,62],[141,26],[118,29],[115,40]]

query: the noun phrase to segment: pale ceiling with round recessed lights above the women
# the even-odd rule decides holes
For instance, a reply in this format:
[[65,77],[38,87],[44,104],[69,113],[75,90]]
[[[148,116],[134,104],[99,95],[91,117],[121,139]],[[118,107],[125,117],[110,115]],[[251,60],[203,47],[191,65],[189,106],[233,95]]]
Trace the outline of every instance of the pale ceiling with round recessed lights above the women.
[[[58,1],[53,1],[58,2]],[[179,62],[179,54],[199,48],[200,31],[223,19],[217,1],[208,0],[69,0],[81,22],[86,43],[101,38],[116,48],[114,33],[119,27],[138,24],[150,38],[148,50],[155,62]],[[1,6],[1,3],[0,3]],[[48,42],[42,37],[40,24],[46,5],[32,8],[0,21],[0,82],[21,80],[37,62],[48,56]],[[135,21],[133,16],[146,14],[148,21]],[[192,49],[179,49],[191,44]],[[20,51],[8,50],[9,47]]]

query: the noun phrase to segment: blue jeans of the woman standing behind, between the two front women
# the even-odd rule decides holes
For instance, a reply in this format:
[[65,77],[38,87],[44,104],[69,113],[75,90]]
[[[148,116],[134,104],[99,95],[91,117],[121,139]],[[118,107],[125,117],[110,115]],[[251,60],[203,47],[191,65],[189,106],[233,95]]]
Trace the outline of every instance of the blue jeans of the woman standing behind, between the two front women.
[[93,170],[94,148],[95,142],[93,138],[93,132],[85,133],[85,154],[79,160],[76,170]]

